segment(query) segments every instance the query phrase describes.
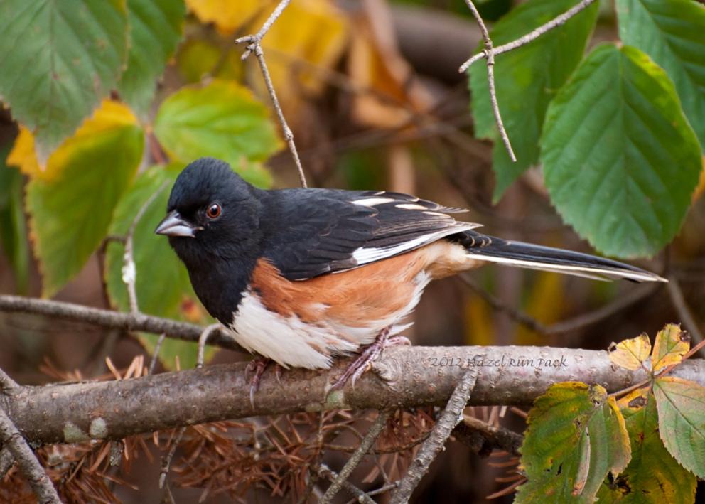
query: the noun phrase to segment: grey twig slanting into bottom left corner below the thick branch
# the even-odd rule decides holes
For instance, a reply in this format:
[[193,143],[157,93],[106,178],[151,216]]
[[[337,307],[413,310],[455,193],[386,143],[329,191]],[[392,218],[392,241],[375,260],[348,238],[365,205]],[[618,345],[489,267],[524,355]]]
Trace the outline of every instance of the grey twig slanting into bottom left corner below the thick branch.
[[37,496],[38,502],[60,504],[61,500],[51,479],[20,431],[2,409],[0,409],[0,439],[14,456],[17,465]]

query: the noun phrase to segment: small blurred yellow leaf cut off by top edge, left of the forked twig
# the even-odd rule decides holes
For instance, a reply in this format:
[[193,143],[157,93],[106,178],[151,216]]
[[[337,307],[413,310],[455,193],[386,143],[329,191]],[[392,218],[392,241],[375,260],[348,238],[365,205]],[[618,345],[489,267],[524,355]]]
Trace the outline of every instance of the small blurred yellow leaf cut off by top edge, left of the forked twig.
[[226,36],[232,35],[271,4],[272,0],[186,0],[188,10],[202,23],[214,23],[217,31]]

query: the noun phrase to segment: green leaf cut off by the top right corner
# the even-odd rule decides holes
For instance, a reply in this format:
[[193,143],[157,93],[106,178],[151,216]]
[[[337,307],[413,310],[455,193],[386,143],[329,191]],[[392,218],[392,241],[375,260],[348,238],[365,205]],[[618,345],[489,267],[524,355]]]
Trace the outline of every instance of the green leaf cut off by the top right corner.
[[705,7],[693,0],[617,0],[619,35],[673,80],[705,150]]

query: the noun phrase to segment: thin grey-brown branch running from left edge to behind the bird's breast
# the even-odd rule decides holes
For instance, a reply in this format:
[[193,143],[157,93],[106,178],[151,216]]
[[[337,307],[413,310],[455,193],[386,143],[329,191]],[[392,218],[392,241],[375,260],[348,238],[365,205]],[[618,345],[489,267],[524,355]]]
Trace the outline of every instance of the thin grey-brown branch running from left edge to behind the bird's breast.
[[[23,296],[0,295],[0,312],[39,313],[44,316],[68,321],[90,323],[105,328],[117,328],[126,331],[144,331],[146,333],[166,333],[168,338],[184,341],[198,341],[203,327],[192,323],[177,322],[169,318],[144,315],[144,313],[121,313],[103,310],[80,304],[34,299]],[[208,341],[221,348],[245,352],[225,331],[212,333]]]

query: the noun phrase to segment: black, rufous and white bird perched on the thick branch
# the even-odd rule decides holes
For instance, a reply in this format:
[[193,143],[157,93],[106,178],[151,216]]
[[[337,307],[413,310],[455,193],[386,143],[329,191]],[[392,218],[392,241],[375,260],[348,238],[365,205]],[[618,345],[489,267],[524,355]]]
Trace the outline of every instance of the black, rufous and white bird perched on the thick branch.
[[407,194],[260,189],[213,158],[179,173],[166,210],[155,232],[198,299],[260,356],[251,399],[270,361],[315,370],[356,354],[333,383],[354,386],[384,348],[408,343],[401,333],[429,282],[483,264],[666,282],[612,259],[485,235],[453,218],[465,210]]

